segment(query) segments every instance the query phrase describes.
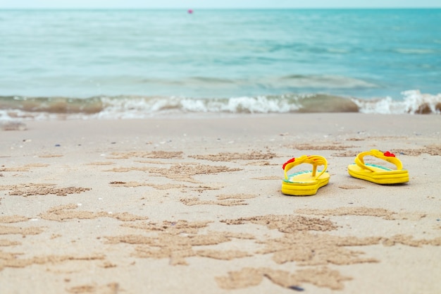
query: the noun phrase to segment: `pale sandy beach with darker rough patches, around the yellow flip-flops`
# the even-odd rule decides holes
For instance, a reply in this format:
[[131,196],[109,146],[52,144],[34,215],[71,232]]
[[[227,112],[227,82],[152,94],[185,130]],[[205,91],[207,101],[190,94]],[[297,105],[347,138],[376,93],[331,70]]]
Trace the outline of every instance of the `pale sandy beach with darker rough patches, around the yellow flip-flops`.
[[[441,116],[25,121],[0,129],[0,293],[441,293]],[[409,183],[347,173],[390,151]],[[280,192],[318,154],[330,183]]]

